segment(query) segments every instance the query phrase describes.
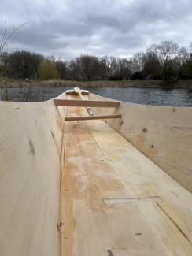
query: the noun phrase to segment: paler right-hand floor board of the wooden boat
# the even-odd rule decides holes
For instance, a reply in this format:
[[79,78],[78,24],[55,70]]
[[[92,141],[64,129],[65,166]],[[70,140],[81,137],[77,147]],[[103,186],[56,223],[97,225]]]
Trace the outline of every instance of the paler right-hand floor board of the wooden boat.
[[[118,197],[110,191],[110,194],[103,198],[144,198],[158,195],[164,201],[123,203],[106,205],[106,207],[130,209],[136,205],[145,223],[152,228],[153,235],[157,236],[166,248],[164,254],[175,255],[179,251],[179,254],[190,255],[192,253],[190,227],[192,197],[190,192],[126,142],[120,134],[115,133],[114,129],[110,130],[105,122],[90,122],[87,123],[87,127],[102,151],[102,158],[104,161],[109,160],[113,172],[126,189],[124,196]],[[127,217],[129,218],[130,214]],[[137,224],[135,224],[136,227]]]

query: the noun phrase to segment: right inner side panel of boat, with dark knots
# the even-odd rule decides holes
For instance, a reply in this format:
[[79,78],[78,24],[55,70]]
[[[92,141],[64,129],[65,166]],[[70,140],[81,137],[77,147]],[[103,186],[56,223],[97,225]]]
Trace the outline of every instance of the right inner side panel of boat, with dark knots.
[[[107,100],[90,94],[90,100]],[[146,106],[121,102],[113,109],[93,108],[95,114],[122,114],[107,123],[166,173],[192,192],[192,108]]]

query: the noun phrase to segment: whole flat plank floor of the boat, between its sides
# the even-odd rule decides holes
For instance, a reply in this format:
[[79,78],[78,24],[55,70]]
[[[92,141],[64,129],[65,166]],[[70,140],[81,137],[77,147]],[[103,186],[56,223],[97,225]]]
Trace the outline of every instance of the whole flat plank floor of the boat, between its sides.
[[192,254],[189,191],[105,121],[67,122],[64,143],[62,256]]

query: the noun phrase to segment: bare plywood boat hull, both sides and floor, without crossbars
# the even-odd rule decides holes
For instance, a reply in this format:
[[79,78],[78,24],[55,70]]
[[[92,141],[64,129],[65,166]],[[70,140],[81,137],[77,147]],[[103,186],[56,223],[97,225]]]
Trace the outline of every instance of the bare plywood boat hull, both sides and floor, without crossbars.
[[0,102],[0,255],[191,255],[189,109],[91,111]]

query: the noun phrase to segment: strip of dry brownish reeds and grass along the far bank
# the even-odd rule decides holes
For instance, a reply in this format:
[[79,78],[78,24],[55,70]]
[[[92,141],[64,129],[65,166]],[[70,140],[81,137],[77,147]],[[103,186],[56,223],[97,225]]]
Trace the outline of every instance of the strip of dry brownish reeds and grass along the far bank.
[[[0,88],[4,87],[0,81]],[[182,88],[192,89],[192,80],[178,80],[164,83],[162,80],[129,80],[129,81],[71,81],[71,80],[7,80],[7,87],[133,87],[133,88]]]

